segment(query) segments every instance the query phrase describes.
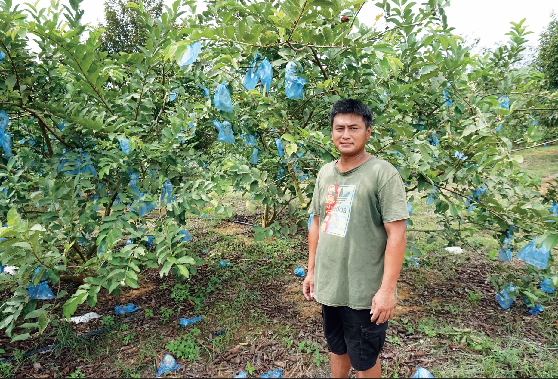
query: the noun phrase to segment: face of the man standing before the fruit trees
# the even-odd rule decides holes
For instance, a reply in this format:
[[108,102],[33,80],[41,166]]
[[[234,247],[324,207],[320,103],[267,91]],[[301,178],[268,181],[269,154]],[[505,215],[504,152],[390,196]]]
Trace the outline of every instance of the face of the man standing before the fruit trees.
[[367,128],[362,117],[353,113],[340,113],[333,119],[333,145],[341,155],[358,155],[364,150],[372,128]]

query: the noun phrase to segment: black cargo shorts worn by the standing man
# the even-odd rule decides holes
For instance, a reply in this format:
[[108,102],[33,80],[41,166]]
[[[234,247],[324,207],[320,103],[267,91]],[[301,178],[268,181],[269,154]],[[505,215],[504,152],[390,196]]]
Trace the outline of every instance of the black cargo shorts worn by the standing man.
[[351,366],[357,371],[374,367],[386,342],[388,322],[371,322],[369,309],[348,306],[321,306],[324,335],[332,353],[349,354]]

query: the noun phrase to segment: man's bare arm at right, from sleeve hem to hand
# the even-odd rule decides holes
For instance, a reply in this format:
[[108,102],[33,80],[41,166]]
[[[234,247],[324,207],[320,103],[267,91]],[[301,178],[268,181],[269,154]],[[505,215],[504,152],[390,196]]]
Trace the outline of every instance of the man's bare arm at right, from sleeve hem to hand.
[[374,299],[372,299],[371,321],[377,319],[376,324],[386,322],[393,317],[395,307],[395,286],[401,272],[403,258],[405,257],[405,220],[384,223],[387,233],[386,256],[384,258],[384,272],[382,285]]

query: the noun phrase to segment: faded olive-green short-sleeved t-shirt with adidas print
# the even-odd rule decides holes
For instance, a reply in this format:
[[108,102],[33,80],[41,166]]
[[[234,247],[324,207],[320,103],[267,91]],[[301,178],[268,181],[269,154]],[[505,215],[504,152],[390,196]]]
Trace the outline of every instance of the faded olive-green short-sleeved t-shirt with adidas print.
[[335,163],[321,168],[309,208],[321,224],[314,298],[325,305],[369,309],[382,284],[383,224],[409,218],[405,185],[395,167],[374,156],[345,172]]

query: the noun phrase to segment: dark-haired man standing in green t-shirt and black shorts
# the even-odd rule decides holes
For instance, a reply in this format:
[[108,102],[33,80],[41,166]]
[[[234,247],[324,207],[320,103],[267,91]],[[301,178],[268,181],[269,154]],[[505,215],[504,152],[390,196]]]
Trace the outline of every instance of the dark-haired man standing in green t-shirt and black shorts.
[[409,218],[405,185],[389,162],[364,150],[370,108],[339,100],[329,116],[340,158],[316,178],[309,212],[307,300],[322,304],[331,376],[379,378],[379,353],[393,316]]

